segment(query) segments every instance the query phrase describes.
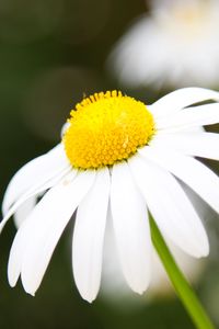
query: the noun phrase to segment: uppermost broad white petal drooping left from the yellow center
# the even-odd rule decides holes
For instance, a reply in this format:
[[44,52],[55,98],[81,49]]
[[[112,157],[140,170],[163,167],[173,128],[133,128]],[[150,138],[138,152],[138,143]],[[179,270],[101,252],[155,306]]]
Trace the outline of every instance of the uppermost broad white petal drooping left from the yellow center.
[[64,145],[59,144],[46,155],[43,155],[23,166],[10,181],[2,203],[2,213],[9,211],[11,205],[28,189],[45,184],[65,168],[69,167]]

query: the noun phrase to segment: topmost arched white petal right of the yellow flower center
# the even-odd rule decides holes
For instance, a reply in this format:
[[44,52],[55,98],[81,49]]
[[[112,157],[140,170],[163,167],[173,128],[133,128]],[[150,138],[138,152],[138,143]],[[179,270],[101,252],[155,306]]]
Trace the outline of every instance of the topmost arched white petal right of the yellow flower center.
[[160,117],[207,100],[219,100],[219,93],[204,88],[182,88],[154,102],[151,105],[151,111],[155,116]]

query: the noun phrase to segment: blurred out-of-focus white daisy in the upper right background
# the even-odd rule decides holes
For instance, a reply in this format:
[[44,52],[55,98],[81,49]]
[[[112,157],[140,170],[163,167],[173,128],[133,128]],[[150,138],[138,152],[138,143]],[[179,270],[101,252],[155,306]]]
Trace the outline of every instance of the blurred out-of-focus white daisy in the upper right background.
[[151,1],[110,56],[122,83],[162,87],[219,82],[219,1]]

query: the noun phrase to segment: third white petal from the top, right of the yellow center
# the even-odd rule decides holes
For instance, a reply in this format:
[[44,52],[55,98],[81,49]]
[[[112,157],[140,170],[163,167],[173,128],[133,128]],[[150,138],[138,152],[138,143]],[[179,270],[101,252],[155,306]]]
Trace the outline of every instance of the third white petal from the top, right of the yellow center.
[[184,155],[219,160],[219,134],[214,133],[175,133],[157,134],[150,146],[171,148]]

